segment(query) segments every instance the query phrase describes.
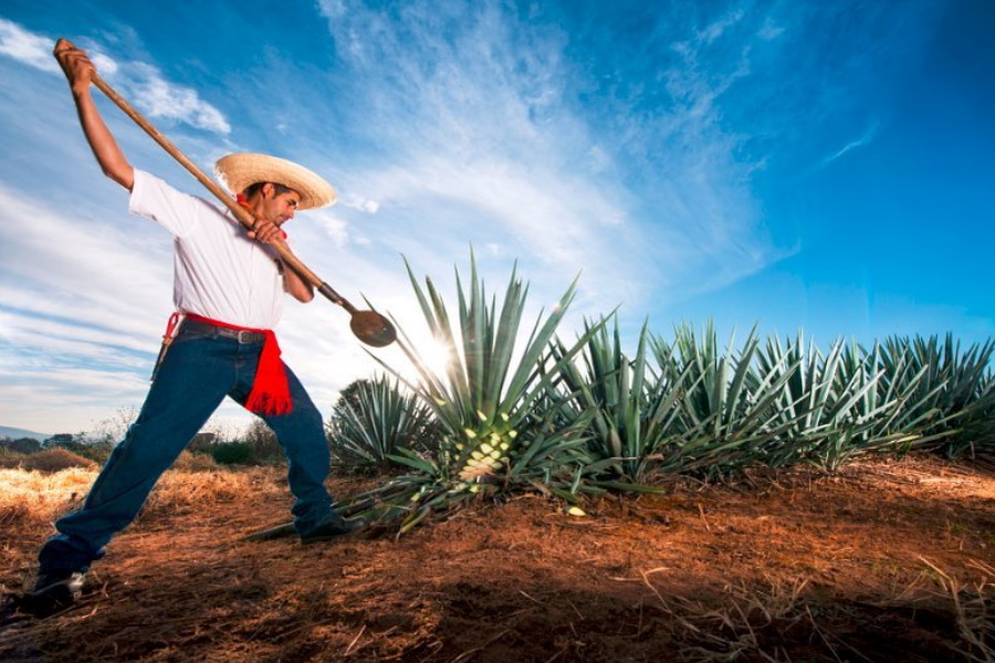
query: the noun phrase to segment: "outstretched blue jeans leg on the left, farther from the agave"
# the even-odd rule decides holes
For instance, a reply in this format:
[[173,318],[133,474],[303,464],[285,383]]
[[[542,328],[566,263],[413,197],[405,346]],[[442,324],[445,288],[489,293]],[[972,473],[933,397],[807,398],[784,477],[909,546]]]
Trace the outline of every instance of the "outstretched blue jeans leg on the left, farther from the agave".
[[84,570],[134,520],[159,476],[210,418],[234,381],[223,340],[184,337],[167,352],[138,419],[114,449],[83,507],[59,519],[39,554],[42,571]]

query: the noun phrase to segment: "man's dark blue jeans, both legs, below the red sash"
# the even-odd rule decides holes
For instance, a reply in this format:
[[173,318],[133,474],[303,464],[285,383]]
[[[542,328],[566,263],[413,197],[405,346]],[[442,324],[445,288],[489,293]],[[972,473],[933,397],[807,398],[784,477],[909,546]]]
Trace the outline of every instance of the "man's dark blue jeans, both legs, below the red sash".
[[[226,396],[244,406],[262,343],[240,344],[182,329],[153,380],[138,419],[111,453],[83,507],[55,523],[39,554],[42,571],[82,570],[104,556],[104,546],[128,526],[159,476],[169,469]],[[262,415],[287,457],[297,532],[306,535],[334,514],[325,488],[329,453],[322,415],[297,377],[284,365],[293,411]]]

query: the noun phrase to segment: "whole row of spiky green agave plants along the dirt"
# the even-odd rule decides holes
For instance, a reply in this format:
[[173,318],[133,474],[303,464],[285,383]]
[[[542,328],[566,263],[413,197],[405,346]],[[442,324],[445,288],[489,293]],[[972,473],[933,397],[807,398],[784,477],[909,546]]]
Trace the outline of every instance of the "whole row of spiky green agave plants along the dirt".
[[[527,285],[512,273],[489,299],[471,255],[455,315],[430,278],[408,275],[429,330],[448,349],[431,370],[398,324],[419,379],[400,367],[357,383],[336,408],[329,443],[346,466],[404,473],[347,501],[347,513],[400,520],[481,496],[540,491],[577,504],[585,494],[656,491],[667,475],[705,478],[754,465],[835,471],[868,453],[995,450],[995,377],[988,341],[962,350],[947,336],[893,337],[821,351],[804,334],[721,346],[709,322],[664,339],[643,327],[628,354],[615,315],[564,340],[575,292],[524,334]],[[524,338],[524,340],[522,340]],[[383,364],[383,362],[381,362]]]

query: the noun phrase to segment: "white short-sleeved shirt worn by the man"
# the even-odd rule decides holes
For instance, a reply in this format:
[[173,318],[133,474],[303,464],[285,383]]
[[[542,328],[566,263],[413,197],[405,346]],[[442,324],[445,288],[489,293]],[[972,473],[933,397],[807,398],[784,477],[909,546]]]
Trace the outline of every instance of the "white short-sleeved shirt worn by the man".
[[276,252],[250,240],[227,208],[136,169],[128,211],[158,222],[175,238],[177,311],[240,327],[276,326],[284,297]]

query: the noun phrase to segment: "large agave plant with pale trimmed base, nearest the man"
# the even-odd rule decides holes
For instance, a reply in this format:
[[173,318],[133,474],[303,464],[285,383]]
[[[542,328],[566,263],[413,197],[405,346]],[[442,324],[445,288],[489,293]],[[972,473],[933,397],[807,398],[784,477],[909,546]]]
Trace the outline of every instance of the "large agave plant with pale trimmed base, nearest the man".
[[533,487],[576,495],[589,464],[583,436],[587,420],[564,425],[561,403],[551,400],[561,369],[599,329],[589,329],[573,347],[551,350],[576,281],[521,341],[528,288],[516,270],[499,308],[495,298],[488,301],[471,253],[467,292],[455,273],[459,308],[453,319],[431,278],[422,288],[407,260],[405,264],[429,330],[448,350],[447,367],[437,373],[397,325],[398,344],[420,378],[409,386],[431,409],[440,439],[428,451],[399,449],[391,457],[413,473],[355,499],[373,505],[368,515],[381,520],[401,517],[405,532],[432,511],[453,508],[475,494]]

